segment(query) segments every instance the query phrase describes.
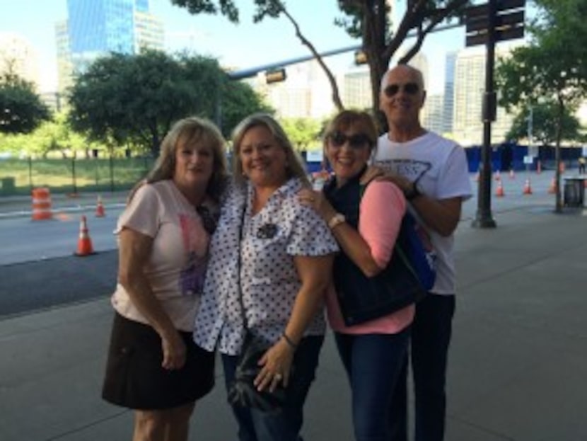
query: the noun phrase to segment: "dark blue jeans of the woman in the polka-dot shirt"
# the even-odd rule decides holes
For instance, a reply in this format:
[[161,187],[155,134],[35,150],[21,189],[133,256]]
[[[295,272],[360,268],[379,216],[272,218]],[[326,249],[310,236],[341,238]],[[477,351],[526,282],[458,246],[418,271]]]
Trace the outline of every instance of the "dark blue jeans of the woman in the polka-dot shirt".
[[[294,372],[287,389],[287,404],[278,412],[231,406],[238,423],[240,441],[300,441],[303,404],[314,381],[324,336],[302,338],[294,355]],[[222,355],[226,389],[233,382],[238,357]]]

